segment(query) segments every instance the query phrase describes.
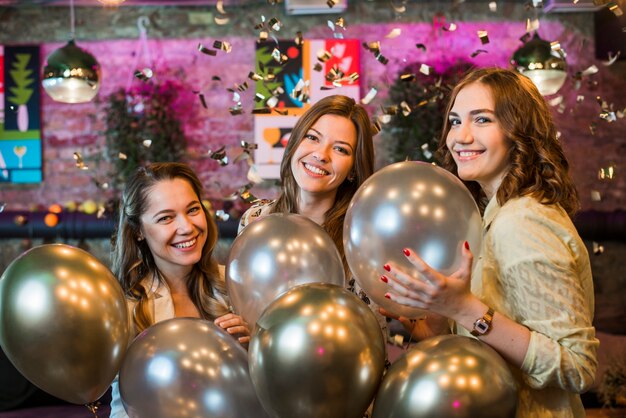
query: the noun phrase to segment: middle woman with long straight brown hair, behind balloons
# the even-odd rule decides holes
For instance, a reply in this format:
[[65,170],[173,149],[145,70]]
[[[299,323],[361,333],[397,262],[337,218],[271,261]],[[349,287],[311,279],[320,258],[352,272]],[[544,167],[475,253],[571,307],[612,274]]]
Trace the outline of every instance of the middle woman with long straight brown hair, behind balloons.
[[347,287],[376,314],[385,338],[387,321],[351,277],[343,248],[343,223],[350,200],[374,173],[373,128],[367,111],[344,95],[325,97],[296,122],[280,165],[281,193],[262,200],[241,217],[239,232],[270,213],[297,213],[321,225],[335,242]]

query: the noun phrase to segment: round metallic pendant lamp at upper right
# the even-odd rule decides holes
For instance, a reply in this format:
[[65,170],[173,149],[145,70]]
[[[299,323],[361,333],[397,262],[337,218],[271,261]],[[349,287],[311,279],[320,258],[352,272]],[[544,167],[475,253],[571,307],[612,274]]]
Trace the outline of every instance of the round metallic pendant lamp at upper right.
[[537,35],[522,45],[511,58],[511,65],[530,78],[544,96],[555,94],[565,83],[565,54]]

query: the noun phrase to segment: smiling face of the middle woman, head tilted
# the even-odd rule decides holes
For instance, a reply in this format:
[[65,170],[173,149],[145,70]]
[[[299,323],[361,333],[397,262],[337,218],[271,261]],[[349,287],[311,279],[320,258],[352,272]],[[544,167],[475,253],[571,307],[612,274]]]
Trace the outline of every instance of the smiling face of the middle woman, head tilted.
[[300,193],[332,195],[354,166],[357,132],[348,118],[323,115],[305,134],[291,159]]

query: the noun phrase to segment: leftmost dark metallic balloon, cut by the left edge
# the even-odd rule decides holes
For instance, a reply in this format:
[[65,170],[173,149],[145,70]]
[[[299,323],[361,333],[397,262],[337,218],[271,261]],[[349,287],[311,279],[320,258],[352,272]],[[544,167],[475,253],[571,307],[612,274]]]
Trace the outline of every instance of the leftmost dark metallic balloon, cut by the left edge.
[[100,398],[128,339],[122,288],[83,250],[32,248],[0,278],[0,344],[28,380],[58,398],[77,404]]

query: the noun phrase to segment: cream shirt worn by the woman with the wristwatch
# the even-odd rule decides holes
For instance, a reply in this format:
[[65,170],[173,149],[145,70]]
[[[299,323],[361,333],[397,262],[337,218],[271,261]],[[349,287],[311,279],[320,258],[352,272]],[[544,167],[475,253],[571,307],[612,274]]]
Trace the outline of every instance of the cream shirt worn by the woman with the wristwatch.
[[[599,341],[592,326],[589,255],[567,213],[531,197],[491,199],[472,293],[531,331],[517,418],[585,417],[579,393],[593,384]],[[459,327],[457,332],[469,336]]]

